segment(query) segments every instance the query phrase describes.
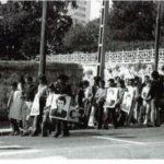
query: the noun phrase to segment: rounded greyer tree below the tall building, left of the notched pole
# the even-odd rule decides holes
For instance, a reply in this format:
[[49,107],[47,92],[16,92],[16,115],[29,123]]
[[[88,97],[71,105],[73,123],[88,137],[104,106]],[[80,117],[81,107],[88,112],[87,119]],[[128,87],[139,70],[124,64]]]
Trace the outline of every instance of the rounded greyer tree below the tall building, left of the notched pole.
[[97,50],[98,40],[97,22],[90,22],[86,26],[77,24],[72,26],[63,38],[65,51],[94,52]]

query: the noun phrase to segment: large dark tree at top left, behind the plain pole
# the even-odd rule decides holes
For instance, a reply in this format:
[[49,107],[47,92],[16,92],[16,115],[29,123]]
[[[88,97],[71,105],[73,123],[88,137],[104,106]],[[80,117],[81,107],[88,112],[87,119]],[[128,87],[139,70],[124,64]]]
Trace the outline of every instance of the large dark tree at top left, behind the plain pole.
[[[60,51],[62,37],[72,25],[67,15],[70,1],[48,1],[47,10],[47,52]],[[73,2],[74,7],[74,2]],[[32,58],[39,54],[42,2],[8,1],[0,4],[1,57],[8,59]]]

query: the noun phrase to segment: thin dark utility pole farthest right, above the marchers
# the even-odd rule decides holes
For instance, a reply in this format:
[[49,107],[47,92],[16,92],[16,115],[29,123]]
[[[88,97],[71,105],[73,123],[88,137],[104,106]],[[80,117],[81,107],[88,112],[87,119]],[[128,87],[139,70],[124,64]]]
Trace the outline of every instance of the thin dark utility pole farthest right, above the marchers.
[[159,1],[157,15],[156,15],[156,30],[155,30],[155,71],[157,71],[157,68],[159,68],[160,17],[161,17],[161,1]]

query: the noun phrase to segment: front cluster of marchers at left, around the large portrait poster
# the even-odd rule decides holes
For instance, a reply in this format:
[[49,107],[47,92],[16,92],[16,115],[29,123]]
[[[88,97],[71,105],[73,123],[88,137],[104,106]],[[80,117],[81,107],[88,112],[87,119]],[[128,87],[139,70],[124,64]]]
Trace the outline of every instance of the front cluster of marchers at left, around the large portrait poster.
[[[63,95],[72,95],[71,86],[67,83],[68,77],[61,74],[57,81],[47,84],[46,77],[40,74],[38,82],[27,75],[20,78],[19,82],[11,83],[11,93],[8,101],[9,120],[12,127],[11,136],[48,136],[54,131],[54,137],[68,137],[69,129],[67,120],[50,118],[49,113],[52,105],[52,96],[60,94],[57,109],[51,109],[51,115],[65,117],[61,108],[66,104]],[[55,112],[54,112],[55,110]]]

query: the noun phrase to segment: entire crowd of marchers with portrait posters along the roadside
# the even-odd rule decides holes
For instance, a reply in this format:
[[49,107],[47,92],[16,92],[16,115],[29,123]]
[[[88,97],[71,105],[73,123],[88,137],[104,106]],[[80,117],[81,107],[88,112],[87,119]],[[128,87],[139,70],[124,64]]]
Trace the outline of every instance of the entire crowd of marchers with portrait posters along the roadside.
[[[39,75],[35,83],[27,75],[13,82],[11,87],[8,109],[12,136],[68,137],[70,125],[97,129],[108,129],[109,124],[114,128],[130,124],[160,126],[160,109],[164,106],[164,78],[156,71],[145,75],[143,82],[139,77],[116,77],[107,82],[95,77],[92,86],[89,81],[81,81],[77,93],[72,93],[65,74],[49,85],[45,75]],[[109,93],[110,89],[117,94]],[[127,93],[132,95],[130,101]],[[60,96],[52,105],[55,95]],[[79,122],[67,120],[66,96],[71,97]],[[127,106],[129,109],[125,110]]]

